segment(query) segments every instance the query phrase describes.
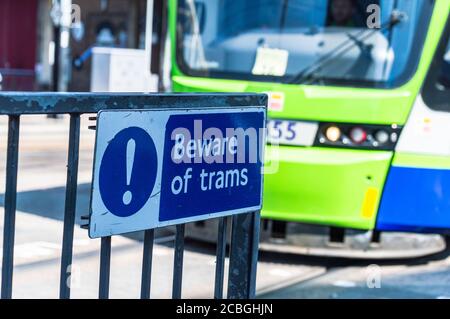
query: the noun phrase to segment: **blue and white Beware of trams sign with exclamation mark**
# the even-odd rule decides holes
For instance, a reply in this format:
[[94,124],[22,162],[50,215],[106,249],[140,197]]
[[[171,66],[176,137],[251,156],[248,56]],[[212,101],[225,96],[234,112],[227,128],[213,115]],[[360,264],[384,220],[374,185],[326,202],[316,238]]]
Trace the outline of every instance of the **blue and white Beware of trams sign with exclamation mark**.
[[265,108],[102,111],[89,236],[261,209]]

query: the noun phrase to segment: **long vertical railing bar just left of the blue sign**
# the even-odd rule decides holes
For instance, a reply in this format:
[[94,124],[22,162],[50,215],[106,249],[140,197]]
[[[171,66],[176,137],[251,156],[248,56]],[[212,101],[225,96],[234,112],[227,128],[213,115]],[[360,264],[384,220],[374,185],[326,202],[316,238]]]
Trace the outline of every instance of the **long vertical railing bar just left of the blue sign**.
[[67,158],[66,199],[64,207],[64,231],[61,252],[59,297],[70,298],[70,273],[72,272],[73,233],[78,186],[78,159],[80,146],[80,115],[70,115],[69,150]]

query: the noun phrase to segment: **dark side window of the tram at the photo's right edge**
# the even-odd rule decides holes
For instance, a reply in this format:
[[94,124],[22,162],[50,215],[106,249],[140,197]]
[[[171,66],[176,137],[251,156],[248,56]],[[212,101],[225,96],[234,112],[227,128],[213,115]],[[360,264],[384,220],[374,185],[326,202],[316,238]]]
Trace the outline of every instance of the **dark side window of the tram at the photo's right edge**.
[[423,97],[430,108],[450,112],[450,17],[426,80]]

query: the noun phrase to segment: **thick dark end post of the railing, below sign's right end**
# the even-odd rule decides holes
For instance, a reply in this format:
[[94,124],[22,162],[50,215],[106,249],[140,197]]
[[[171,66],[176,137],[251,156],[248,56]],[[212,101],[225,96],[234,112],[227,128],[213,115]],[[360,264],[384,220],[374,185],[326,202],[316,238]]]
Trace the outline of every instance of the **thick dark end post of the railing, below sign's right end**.
[[229,299],[255,297],[259,223],[259,212],[233,216],[228,274]]

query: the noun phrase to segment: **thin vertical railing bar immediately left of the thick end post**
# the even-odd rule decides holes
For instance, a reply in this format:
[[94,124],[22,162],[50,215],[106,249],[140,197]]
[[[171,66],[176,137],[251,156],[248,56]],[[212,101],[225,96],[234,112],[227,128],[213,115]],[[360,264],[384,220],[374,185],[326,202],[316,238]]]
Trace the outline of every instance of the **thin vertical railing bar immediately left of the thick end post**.
[[223,281],[225,274],[225,257],[227,250],[227,225],[228,218],[222,217],[219,219],[217,248],[216,248],[216,279],[214,286],[214,298],[223,298]]

